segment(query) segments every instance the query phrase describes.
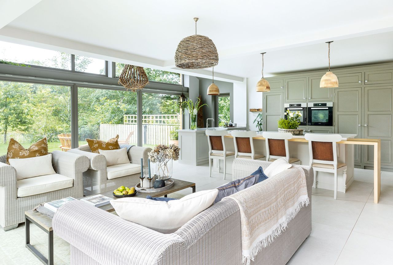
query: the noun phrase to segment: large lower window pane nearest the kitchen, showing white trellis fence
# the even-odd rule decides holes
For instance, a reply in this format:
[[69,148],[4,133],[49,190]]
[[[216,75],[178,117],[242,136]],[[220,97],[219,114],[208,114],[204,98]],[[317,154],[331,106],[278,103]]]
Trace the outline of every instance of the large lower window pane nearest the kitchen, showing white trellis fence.
[[177,140],[182,114],[178,95],[142,93],[142,145],[154,147]]

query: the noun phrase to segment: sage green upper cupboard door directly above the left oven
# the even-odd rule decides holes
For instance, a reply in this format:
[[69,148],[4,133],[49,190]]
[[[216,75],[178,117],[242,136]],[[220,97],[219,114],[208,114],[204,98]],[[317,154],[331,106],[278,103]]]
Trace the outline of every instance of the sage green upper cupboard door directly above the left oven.
[[307,78],[285,79],[285,102],[306,102]]

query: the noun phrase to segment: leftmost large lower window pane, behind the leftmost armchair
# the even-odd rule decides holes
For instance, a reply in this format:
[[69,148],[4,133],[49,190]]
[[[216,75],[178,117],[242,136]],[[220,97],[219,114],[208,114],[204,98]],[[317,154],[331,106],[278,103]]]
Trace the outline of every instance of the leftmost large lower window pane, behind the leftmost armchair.
[[71,88],[0,81],[0,132],[0,155],[10,138],[28,148],[46,137],[50,152],[61,150],[61,140],[71,143]]

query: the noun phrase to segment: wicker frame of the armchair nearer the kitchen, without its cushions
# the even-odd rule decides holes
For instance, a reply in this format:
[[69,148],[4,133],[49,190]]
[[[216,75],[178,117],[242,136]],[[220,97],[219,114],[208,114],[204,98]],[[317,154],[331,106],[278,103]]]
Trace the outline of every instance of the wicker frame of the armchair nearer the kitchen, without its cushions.
[[85,196],[90,196],[92,194],[114,190],[121,185],[128,185],[129,187],[136,185],[140,182],[141,158],[143,158],[143,167],[147,167],[147,153],[150,151],[151,148],[148,147],[132,146],[127,154],[130,163],[139,165],[139,167],[136,167],[138,172],[111,179],[108,179],[108,167],[105,156],[93,153],[88,145],[71,149],[68,153],[84,155],[90,159],[89,169],[83,173],[83,193]]

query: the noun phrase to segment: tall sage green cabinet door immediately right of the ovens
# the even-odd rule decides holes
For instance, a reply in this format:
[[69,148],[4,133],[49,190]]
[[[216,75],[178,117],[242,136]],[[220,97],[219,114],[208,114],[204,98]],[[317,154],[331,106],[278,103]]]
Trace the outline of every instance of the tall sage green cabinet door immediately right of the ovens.
[[[339,83],[339,85],[341,85]],[[362,136],[362,87],[334,89],[334,131],[335,133]],[[354,162],[362,163],[362,147],[354,145]]]

